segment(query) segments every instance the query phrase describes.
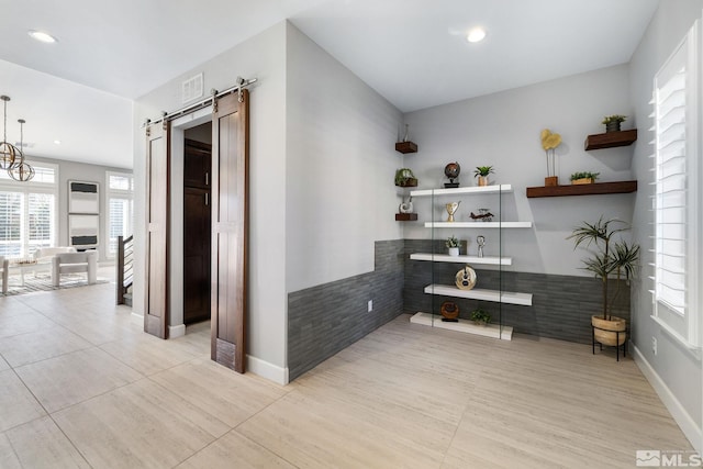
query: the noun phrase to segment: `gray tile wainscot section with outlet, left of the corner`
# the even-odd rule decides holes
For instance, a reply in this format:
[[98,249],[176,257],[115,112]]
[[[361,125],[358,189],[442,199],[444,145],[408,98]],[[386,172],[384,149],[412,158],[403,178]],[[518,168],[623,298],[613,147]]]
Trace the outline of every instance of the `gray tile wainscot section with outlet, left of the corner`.
[[403,239],[376,242],[375,255],[372,272],[289,293],[291,381],[403,312]]

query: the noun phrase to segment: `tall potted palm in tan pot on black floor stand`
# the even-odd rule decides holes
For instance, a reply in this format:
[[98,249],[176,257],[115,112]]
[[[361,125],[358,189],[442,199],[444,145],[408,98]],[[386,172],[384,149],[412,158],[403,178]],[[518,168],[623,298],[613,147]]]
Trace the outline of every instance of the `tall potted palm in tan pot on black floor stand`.
[[[620,227],[617,227],[620,226]],[[591,316],[591,325],[595,340],[603,345],[620,346],[626,339],[626,322],[622,317],[613,316],[611,310],[620,293],[621,280],[629,280],[635,275],[639,259],[639,246],[625,241],[614,241],[613,235],[627,231],[629,227],[620,220],[603,220],[595,223],[583,222],[573,228],[571,236],[576,249],[585,244],[594,245],[591,256],[583,259],[584,270],[592,272],[602,282],[603,310]],[[610,282],[616,281],[614,294],[609,293]]]

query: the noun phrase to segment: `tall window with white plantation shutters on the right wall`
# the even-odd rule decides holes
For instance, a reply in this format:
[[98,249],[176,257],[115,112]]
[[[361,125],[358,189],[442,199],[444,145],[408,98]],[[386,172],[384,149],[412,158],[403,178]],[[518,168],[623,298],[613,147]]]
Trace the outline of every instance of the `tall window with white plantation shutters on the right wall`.
[[699,22],[655,76],[654,319],[680,342],[698,347],[701,254],[699,187]]

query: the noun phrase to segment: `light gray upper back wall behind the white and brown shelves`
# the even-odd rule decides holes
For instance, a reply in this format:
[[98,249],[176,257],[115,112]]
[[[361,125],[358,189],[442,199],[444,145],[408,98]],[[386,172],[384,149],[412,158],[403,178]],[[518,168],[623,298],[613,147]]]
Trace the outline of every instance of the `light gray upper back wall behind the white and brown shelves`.
[[[550,129],[561,134],[557,148],[557,176],[562,185],[576,171],[600,172],[599,181],[629,180],[632,147],[585,152],[588,134],[604,132],[601,120],[607,114],[633,115],[629,103],[627,65],[618,65],[524,88],[429,108],[406,115],[411,139],[420,146],[416,155],[405,157],[405,165],[417,176],[420,188],[444,187],[444,167],[449,161],[461,165],[460,185],[475,186],[473,169],[493,166],[495,183],[510,183],[514,192],[503,198],[503,220],[532,221],[531,230],[504,230],[503,254],[513,256],[509,269],[526,272],[584,276],[580,270],[583,253],[573,250],[565,238],[581,221],[595,222],[601,215],[632,220],[633,194],[527,199],[525,188],[544,186],[547,176],[545,153],[539,134]],[[629,122],[623,129],[629,129]],[[460,217],[488,208],[496,214],[496,198],[462,198]],[[406,238],[431,236],[422,221],[428,220],[428,198],[413,201],[420,216],[406,223]],[[435,217],[446,219],[444,203],[436,203]],[[471,238],[487,237],[487,255],[498,255],[498,233],[475,230],[439,231]]]

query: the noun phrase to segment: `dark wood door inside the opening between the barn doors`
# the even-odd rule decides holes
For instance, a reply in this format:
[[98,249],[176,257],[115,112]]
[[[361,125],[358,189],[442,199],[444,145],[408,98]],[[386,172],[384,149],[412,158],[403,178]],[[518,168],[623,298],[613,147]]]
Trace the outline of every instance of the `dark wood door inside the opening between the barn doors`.
[[210,319],[211,145],[186,139],[183,177],[183,323]]

